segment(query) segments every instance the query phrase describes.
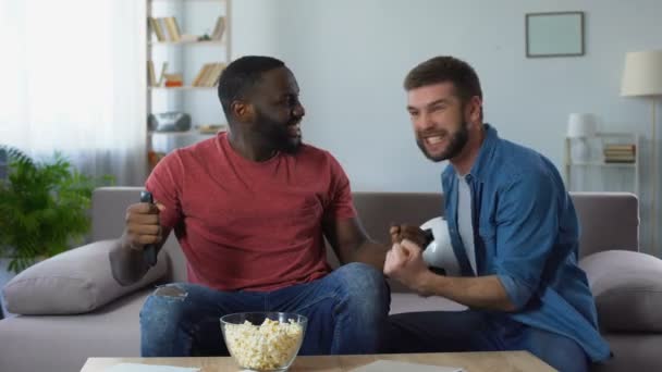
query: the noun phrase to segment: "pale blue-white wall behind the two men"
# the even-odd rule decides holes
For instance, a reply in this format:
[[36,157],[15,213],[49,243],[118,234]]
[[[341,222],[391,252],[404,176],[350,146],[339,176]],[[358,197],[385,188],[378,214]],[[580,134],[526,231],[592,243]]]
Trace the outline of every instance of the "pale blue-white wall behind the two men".
[[[525,13],[551,11],[586,12],[585,57],[525,57]],[[662,48],[660,20],[659,0],[240,0],[233,54],[290,65],[305,140],[335,154],[355,190],[434,191],[442,164],[419,153],[404,109],[402,79],[415,64],[468,61],[486,121],[561,169],[571,112],[597,114],[603,129],[650,133],[649,102],[620,97],[620,84],[627,51]]]

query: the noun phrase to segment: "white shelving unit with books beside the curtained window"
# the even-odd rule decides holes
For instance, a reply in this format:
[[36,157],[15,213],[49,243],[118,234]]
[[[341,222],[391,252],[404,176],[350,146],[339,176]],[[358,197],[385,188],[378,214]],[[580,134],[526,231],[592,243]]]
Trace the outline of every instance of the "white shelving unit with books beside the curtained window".
[[[214,136],[198,131],[207,125],[225,125],[221,106],[212,85],[222,66],[209,69],[206,64],[226,65],[231,60],[231,0],[145,0],[147,1],[146,53],[148,78],[145,88],[148,114],[183,112],[191,117],[186,132],[147,132],[148,163],[154,165],[170,151]],[[220,20],[222,17],[222,20]],[[222,27],[219,27],[222,24]],[[220,37],[218,29],[221,29]],[[158,30],[157,30],[158,29]],[[181,86],[164,86],[170,77],[181,77]],[[151,72],[151,74],[149,74]],[[173,84],[171,79],[169,84]],[[160,85],[157,85],[159,84]],[[147,122],[147,117],[146,117]]]

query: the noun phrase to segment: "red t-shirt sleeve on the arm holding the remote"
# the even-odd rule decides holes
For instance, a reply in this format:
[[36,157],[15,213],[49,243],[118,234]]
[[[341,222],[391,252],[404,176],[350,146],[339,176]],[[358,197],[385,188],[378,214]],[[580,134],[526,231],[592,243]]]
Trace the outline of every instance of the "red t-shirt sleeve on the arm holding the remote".
[[177,151],[161,159],[145,183],[155,202],[163,204],[161,226],[174,227],[182,215],[181,195],[184,168]]

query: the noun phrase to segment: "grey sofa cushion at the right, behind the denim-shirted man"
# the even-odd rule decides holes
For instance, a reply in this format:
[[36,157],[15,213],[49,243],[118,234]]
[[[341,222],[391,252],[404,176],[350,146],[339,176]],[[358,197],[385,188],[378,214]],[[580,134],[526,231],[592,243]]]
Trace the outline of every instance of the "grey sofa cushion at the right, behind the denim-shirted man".
[[609,250],[579,261],[606,331],[662,331],[662,260],[640,252]]

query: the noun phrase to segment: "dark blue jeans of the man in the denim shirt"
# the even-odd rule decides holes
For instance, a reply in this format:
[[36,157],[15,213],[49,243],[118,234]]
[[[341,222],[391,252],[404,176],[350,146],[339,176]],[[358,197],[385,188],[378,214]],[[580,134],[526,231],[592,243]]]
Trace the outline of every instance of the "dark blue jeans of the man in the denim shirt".
[[559,371],[588,371],[579,344],[503,313],[426,311],[391,315],[389,321],[384,352],[528,350]]

